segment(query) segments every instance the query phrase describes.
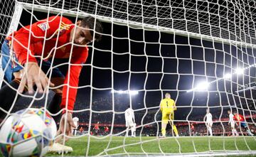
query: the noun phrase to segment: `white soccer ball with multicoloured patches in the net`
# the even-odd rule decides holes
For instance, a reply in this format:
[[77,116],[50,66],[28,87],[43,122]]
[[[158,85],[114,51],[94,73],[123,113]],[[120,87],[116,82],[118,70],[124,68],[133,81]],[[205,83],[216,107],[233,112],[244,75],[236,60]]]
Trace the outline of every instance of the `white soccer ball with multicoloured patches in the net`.
[[43,156],[57,133],[55,121],[44,109],[22,109],[6,119],[0,130],[4,156]]

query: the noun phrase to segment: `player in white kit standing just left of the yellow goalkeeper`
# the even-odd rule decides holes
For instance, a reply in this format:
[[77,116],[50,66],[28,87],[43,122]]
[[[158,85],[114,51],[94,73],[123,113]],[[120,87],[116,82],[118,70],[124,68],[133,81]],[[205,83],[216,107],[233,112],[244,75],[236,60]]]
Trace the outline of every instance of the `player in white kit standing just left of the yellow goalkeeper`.
[[136,123],[135,123],[135,119],[134,119],[134,111],[133,109],[131,109],[130,107],[128,107],[125,112],[125,126],[127,126],[127,132],[126,132],[126,136],[128,136],[129,134],[129,128],[131,127],[131,131],[132,131],[132,137],[135,136],[135,132],[136,132]]

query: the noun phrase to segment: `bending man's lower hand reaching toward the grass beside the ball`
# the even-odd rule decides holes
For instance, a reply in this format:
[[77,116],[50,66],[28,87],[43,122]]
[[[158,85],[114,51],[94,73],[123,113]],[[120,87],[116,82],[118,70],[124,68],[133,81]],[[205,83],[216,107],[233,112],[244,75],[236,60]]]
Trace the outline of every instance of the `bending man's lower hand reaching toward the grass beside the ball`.
[[[75,128],[74,121],[72,119],[72,114],[70,112],[66,112],[65,114],[62,115],[60,119],[60,128],[57,131],[57,136],[60,134],[65,134],[67,136],[72,136],[72,131],[73,128]],[[56,142],[60,141],[62,136],[59,136],[56,139]],[[65,141],[67,141],[68,138],[65,138]]]

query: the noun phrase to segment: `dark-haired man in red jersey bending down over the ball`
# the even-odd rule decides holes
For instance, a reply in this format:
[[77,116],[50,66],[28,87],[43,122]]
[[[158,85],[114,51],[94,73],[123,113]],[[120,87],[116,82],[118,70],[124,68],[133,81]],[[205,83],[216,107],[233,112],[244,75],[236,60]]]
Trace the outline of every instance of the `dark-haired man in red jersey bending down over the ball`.
[[[9,85],[0,90],[0,107],[8,112],[19,94],[33,94],[34,85],[39,93],[50,87],[55,95],[48,110],[55,114],[63,109],[58,134],[70,136],[75,126],[72,111],[81,64],[87,60],[87,44],[100,40],[102,30],[102,24],[91,16],[75,24],[63,16],[51,16],[7,36],[1,47],[1,62]],[[66,75],[54,67],[55,58],[70,60]]]

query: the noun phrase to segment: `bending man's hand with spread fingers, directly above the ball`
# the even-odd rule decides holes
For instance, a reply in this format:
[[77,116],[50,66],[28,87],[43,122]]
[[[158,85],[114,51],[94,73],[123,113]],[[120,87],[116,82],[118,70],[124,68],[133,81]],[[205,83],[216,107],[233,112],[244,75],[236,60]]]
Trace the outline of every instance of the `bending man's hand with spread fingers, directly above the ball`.
[[[49,79],[46,74],[38,66],[38,63],[28,62],[25,64],[25,68],[21,70],[22,79],[21,84],[18,87],[18,92],[23,92],[24,87],[28,85],[28,93],[33,94],[33,85],[36,84],[39,93],[46,91]],[[50,82],[50,87],[54,87],[54,84]]]

